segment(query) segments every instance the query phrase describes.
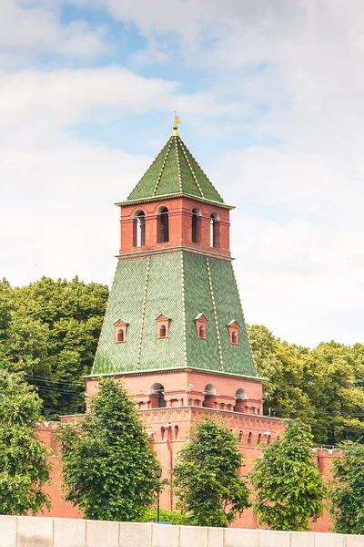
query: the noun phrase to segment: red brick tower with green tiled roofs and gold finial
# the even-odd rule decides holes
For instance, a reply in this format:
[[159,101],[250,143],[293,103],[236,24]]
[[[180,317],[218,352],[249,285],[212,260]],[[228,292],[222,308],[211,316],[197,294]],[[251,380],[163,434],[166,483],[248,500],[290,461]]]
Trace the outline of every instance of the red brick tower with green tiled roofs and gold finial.
[[[192,421],[206,414],[229,418],[248,453],[275,439],[282,426],[262,416],[262,380],[230,256],[233,207],[177,126],[116,205],[120,252],[87,393],[95,393],[99,377],[123,377],[166,476]],[[172,504],[166,492],[163,505]]]

